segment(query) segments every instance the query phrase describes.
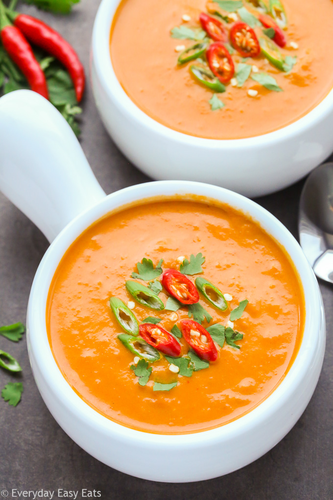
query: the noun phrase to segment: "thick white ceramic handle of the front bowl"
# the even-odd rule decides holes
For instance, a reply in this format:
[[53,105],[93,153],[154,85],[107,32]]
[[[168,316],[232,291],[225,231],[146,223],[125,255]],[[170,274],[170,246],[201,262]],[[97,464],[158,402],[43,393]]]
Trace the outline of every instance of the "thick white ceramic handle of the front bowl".
[[105,192],[59,111],[31,90],[0,98],[0,190],[52,241]]

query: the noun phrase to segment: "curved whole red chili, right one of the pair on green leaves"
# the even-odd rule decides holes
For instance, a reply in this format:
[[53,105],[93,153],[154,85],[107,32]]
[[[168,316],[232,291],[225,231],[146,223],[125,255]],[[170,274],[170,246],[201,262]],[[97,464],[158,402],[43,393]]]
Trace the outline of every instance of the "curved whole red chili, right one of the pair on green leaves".
[[[10,15],[10,14],[9,14]],[[40,19],[26,14],[11,14],[14,25],[32,43],[56,57],[68,70],[74,83],[77,102],[84,91],[84,69],[73,47],[62,36]]]

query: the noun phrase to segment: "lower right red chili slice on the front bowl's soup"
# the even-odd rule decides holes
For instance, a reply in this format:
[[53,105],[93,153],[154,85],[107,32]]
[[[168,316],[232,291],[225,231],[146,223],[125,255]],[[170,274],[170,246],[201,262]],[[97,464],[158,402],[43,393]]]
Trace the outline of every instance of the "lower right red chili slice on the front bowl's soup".
[[208,331],[193,319],[183,319],[181,322],[183,337],[201,359],[216,361],[217,348]]

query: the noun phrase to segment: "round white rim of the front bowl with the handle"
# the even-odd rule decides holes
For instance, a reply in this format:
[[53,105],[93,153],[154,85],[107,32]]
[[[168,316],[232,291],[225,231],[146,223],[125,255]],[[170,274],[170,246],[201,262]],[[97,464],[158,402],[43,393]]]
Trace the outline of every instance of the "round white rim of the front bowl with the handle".
[[[299,273],[304,289],[306,320],[301,346],[287,375],[258,406],[236,420],[219,427],[173,435],[126,427],[103,416],[76,394],[56,364],[48,342],[46,301],[52,277],[63,254],[82,231],[102,216],[127,203],[144,201],[154,196],[175,194],[203,195],[216,199],[218,202],[227,203],[252,217],[273,236],[285,248]],[[315,274],[297,240],[274,215],[256,202],[223,187],[193,181],[162,180],[115,191],[79,214],[62,229],[43,256],[32,283],[28,303],[28,342],[29,351],[33,352],[33,358],[44,377],[48,390],[57,394],[69,413],[76,414],[87,425],[98,428],[103,431],[104,435],[117,436],[123,441],[129,439],[132,444],[141,443],[151,449],[156,446],[162,446],[165,449],[181,446],[189,449],[242,435],[265,422],[268,417],[272,417],[289,400],[294,390],[302,386],[302,381],[309,376],[320,343],[322,320],[321,297]]]

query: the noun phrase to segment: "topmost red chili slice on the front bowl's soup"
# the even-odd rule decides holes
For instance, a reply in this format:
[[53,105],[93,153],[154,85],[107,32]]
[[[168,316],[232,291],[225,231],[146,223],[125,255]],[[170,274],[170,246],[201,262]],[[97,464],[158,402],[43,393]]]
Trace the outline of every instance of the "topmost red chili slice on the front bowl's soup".
[[162,285],[170,295],[177,298],[182,304],[196,304],[199,302],[199,292],[194,283],[176,269],[164,271]]

